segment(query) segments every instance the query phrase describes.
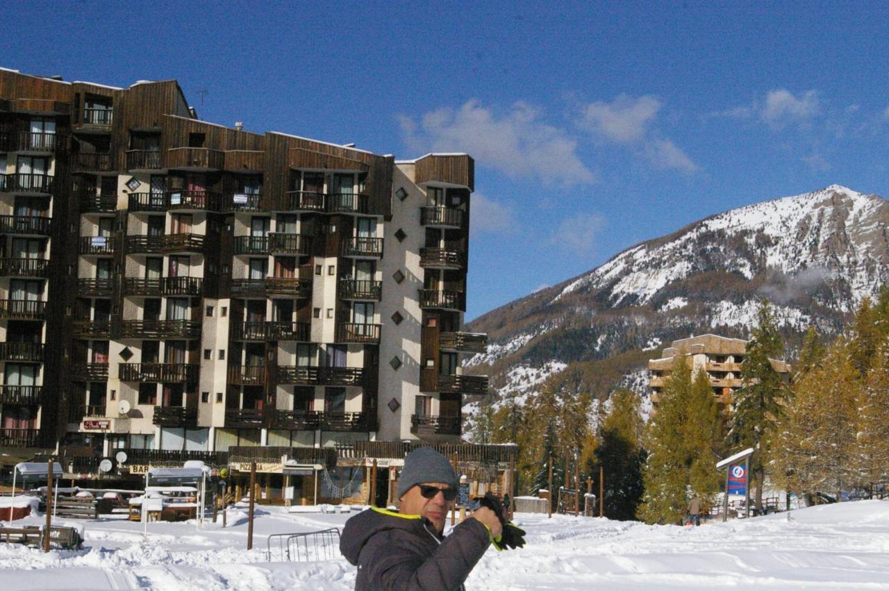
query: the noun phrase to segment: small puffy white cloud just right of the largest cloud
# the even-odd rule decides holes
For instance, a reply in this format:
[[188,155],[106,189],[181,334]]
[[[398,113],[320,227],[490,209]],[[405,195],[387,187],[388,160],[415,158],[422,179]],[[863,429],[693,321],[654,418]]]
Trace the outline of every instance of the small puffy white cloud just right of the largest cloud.
[[581,127],[618,143],[642,140],[647,125],[652,123],[661,108],[653,96],[634,99],[619,95],[610,103],[594,102],[583,108]]

